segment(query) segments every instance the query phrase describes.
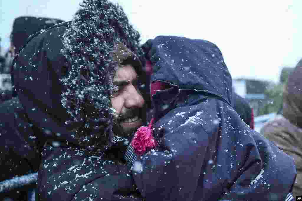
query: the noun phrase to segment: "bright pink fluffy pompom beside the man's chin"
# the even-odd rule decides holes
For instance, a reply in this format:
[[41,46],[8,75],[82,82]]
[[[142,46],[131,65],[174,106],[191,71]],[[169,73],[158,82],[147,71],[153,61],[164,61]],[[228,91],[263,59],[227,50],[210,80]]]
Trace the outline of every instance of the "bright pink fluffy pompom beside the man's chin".
[[154,149],[157,146],[152,133],[154,118],[151,119],[149,126],[141,126],[137,129],[131,141],[131,146],[137,155],[143,155],[146,151]]

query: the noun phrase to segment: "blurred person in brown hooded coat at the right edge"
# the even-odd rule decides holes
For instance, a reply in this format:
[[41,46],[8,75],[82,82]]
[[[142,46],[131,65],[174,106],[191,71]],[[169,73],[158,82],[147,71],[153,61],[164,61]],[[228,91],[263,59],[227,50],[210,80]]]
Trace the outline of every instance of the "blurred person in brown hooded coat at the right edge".
[[283,92],[283,116],[265,124],[261,133],[294,158],[297,178],[293,195],[302,195],[302,60],[289,75]]

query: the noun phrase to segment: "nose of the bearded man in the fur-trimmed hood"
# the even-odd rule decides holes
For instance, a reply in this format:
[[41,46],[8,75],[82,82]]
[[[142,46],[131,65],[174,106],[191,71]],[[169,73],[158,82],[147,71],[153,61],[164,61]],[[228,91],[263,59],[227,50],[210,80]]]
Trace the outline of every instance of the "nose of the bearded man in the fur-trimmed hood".
[[143,96],[140,95],[140,92],[133,86],[129,86],[128,94],[125,100],[125,107],[132,108],[138,107],[142,108],[145,103]]

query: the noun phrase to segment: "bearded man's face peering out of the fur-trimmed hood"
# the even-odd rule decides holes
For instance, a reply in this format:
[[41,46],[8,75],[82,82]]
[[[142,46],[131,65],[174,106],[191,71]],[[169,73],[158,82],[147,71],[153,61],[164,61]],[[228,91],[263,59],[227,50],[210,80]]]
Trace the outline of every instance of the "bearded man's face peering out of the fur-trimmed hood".
[[142,125],[141,109],[145,101],[138,91],[137,83],[137,73],[131,64],[117,68],[113,79],[116,90],[111,97],[111,104],[119,115],[118,122],[125,137],[131,136]]

